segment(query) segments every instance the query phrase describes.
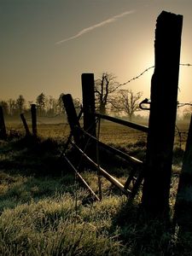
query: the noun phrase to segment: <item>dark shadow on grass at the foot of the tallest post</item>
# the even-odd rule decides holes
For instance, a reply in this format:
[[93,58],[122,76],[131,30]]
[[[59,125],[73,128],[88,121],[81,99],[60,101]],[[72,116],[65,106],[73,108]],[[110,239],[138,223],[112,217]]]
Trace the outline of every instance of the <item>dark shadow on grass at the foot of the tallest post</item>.
[[170,218],[150,218],[141,204],[126,201],[113,216],[112,231],[119,227],[119,241],[127,255],[192,255],[192,232],[175,226]]

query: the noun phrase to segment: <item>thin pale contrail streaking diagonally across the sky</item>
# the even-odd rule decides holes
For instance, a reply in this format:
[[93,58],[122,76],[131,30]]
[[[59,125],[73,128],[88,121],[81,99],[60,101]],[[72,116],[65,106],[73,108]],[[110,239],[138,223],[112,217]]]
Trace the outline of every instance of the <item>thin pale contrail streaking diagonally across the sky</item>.
[[119,18],[124,17],[125,15],[131,15],[131,14],[133,14],[134,12],[135,12],[135,10],[130,10],[130,11],[126,11],[126,12],[120,14],[120,15],[114,15],[112,18],[110,18],[110,19],[108,19],[108,20],[103,20],[102,22],[97,23],[96,25],[86,27],[86,28],[84,28],[83,30],[81,30],[80,32],[78,32],[76,35],[74,35],[73,37],[65,38],[65,39],[63,39],[63,40],[61,40],[61,41],[56,42],[55,44],[62,44],[62,43],[65,43],[65,42],[67,42],[67,41],[69,41],[69,40],[73,40],[73,39],[75,39],[75,38],[79,38],[79,37],[81,37],[82,35],[84,35],[84,34],[90,32],[90,31],[96,29],[97,27],[105,26],[105,25],[107,25],[108,23],[112,23],[112,22],[118,20]]

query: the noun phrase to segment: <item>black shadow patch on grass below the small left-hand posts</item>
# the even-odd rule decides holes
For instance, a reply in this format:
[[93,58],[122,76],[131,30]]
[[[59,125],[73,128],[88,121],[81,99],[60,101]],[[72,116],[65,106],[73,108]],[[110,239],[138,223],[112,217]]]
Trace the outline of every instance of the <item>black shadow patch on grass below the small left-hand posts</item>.
[[61,176],[66,166],[60,158],[60,146],[48,138],[21,137],[0,146],[0,169],[36,177]]

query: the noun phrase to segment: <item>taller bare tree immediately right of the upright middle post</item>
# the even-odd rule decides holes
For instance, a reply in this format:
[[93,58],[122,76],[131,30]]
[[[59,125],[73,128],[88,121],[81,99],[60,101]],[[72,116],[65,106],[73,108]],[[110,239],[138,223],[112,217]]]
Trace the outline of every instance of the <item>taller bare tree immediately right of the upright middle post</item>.
[[106,113],[108,103],[112,102],[113,93],[119,88],[119,83],[112,73],[102,73],[95,81],[96,108],[100,113]]

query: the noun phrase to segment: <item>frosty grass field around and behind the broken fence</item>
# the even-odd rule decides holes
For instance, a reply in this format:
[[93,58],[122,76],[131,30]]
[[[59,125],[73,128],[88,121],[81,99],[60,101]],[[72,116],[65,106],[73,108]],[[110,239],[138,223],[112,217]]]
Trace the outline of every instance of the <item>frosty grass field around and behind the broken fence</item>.
[[[179,129],[187,132],[188,124]],[[102,201],[91,200],[60,158],[67,124],[38,124],[37,140],[20,136],[20,124],[10,124],[9,130],[9,140],[0,141],[0,255],[191,255],[191,234],[167,230],[163,220],[143,222],[137,214],[142,190],[129,203],[102,177]],[[140,160],[145,157],[143,132],[103,122],[99,136]],[[185,133],[175,140],[171,217],[185,141]],[[113,155],[101,155],[101,162],[125,183],[127,163]],[[98,194],[96,173],[86,170],[82,176]]]

